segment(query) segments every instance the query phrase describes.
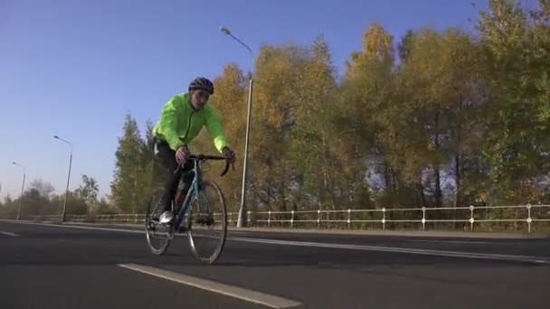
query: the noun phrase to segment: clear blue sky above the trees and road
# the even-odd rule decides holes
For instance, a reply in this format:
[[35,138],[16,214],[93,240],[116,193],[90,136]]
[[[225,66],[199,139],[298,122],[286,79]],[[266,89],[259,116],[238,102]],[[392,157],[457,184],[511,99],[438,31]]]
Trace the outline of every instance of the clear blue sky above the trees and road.
[[248,52],[220,25],[255,52],[263,43],[309,44],[322,33],[342,68],[360,50],[369,23],[382,23],[397,41],[423,25],[471,29],[468,18],[477,18],[477,9],[470,2],[3,0],[0,196],[21,190],[14,160],[26,166],[27,184],[42,178],[64,190],[69,147],[53,135],[74,145],[70,188],[86,173],[99,181],[100,196],[108,193],[128,110],[143,130],[195,76],[214,78],[231,61],[250,69]]

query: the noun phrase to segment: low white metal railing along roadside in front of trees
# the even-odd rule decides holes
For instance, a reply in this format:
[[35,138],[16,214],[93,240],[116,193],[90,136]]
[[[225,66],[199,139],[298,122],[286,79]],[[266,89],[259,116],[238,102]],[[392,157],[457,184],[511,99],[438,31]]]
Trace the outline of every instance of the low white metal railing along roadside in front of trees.
[[[109,214],[109,215],[67,215],[71,222],[89,223],[144,223],[145,214]],[[237,212],[228,212],[230,225],[236,223]],[[61,215],[26,216],[29,220],[60,221]],[[23,219],[25,219],[23,217]],[[520,224],[531,233],[535,227],[550,230],[550,205],[510,205],[510,206],[469,206],[442,208],[404,208],[404,209],[371,209],[371,210],[313,210],[313,211],[248,211],[249,226],[278,228],[325,228],[325,229],[422,229],[446,225],[446,229],[473,230],[476,224],[486,226],[504,226]],[[437,228],[436,228],[437,229]]]

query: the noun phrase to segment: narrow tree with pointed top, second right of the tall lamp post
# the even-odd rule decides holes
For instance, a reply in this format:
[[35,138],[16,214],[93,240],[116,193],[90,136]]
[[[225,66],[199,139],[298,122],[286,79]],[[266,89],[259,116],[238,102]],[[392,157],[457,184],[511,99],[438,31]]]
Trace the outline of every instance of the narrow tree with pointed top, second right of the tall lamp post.
[[[337,175],[331,167],[339,164],[335,159],[335,146],[330,144],[335,126],[332,115],[337,111],[336,69],[332,64],[330,48],[322,35],[308,48],[307,61],[296,91],[295,126],[290,133],[289,165],[299,172],[295,179],[298,192],[294,200],[304,208],[334,208]],[[301,195],[301,196],[300,196]],[[317,202],[316,202],[317,201]],[[308,203],[314,205],[308,207]]]

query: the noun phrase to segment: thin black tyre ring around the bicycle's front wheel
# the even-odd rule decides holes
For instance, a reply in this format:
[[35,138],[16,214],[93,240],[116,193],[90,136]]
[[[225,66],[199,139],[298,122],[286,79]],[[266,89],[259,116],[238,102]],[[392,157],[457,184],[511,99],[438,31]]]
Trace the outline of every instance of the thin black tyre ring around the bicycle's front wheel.
[[[204,192],[204,188],[207,188],[207,187],[210,187],[211,189],[213,189],[213,191],[216,193],[217,195],[217,199],[218,201],[221,203],[221,213],[219,215],[221,215],[221,222],[222,222],[222,230],[221,230],[221,236],[220,236],[220,239],[218,240],[218,243],[216,245],[216,248],[215,250],[213,251],[213,254],[212,255],[209,255],[208,257],[203,257],[197,250],[196,248],[196,244],[195,244],[195,241],[194,241],[194,229],[193,229],[193,211],[194,211],[194,207],[191,207],[191,209],[188,211],[188,216],[187,216],[187,238],[189,239],[189,246],[191,247],[191,251],[193,252],[194,254],[194,257],[196,257],[197,259],[201,260],[201,261],[204,261],[204,262],[208,262],[209,264],[213,264],[222,254],[222,251],[223,251],[223,248],[225,246],[225,239],[227,237],[227,209],[226,209],[226,205],[225,205],[225,197],[223,196],[223,192],[222,190],[220,189],[220,187],[212,182],[212,181],[204,181],[203,183],[203,188],[199,191],[199,192],[194,192],[194,199],[196,198],[196,194],[199,194],[201,192]],[[193,205],[193,204],[192,204]]]

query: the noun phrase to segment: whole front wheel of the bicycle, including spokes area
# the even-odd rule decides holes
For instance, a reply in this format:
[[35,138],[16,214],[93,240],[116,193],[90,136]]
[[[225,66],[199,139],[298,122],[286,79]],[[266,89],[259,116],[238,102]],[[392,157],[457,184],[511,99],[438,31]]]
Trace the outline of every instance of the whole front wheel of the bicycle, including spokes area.
[[221,255],[227,236],[227,211],[220,187],[205,181],[194,192],[187,214],[189,245],[199,260],[213,264]]

